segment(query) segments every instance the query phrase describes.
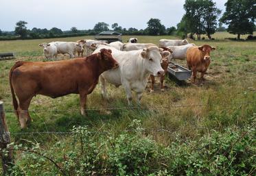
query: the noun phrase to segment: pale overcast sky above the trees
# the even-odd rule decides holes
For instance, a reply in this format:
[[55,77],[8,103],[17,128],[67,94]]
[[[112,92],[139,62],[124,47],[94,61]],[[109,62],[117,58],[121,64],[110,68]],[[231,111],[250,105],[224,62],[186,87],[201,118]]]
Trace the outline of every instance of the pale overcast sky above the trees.
[[[27,27],[92,29],[97,22],[110,26],[145,29],[150,18],[159,18],[165,27],[176,26],[184,14],[185,0],[1,0],[0,29],[13,31],[17,21]],[[216,0],[224,10],[226,0]]]

